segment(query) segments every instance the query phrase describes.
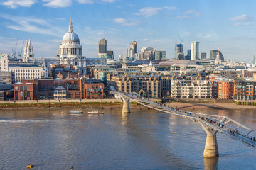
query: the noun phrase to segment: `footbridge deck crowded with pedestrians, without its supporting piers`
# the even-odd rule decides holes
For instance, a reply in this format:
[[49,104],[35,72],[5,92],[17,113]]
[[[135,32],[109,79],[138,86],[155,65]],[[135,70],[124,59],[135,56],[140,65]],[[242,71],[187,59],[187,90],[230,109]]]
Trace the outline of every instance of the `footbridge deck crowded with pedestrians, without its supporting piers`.
[[184,111],[179,108],[174,108],[171,106],[166,106],[165,104],[162,104],[162,103],[156,103],[154,101],[150,101],[149,98],[144,98],[142,96],[139,96],[136,93],[132,93],[132,94],[119,93],[119,94],[122,96],[126,96],[130,100],[135,101],[136,103],[139,103],[148,108],[152,108],[157,111],[161,111],[165,113],[170,113],[172,115],[182,116],[184,118],[191,119],[195,122],[200,121],[201,123],[208,125],[210,128],[213,128],[218,132],[229,135],[233,139],[240,140],[249,145],[252,145],[253,147],[256,147],[255,137],[250,136],[250,133],[253,132],[254,130],[247,128],[245,125],[242,125],[241,123],[238,123],[235,120],[228,118],[226,116],[208,115],[203,113],[194,113],[194,112]]

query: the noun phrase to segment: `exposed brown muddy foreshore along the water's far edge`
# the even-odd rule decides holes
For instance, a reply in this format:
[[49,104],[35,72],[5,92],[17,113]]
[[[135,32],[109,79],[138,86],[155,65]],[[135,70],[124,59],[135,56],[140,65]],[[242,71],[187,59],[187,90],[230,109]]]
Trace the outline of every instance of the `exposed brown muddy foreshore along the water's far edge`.
[[[240,109],[254,109],[256,113],[256,106],[236,105],[235,103],[167,103],[166,105],[181,108],[187,111],[195,111],[200,109],[222,109],[222,110],[240,110]],[[22,109],[22,108],[104,108],[115,109],[122,108],[122,102],[53,102],[53,103],[0,103],[0,109]],[[130,102],[131,109],[147,109],[145,106],[139,105],[135,102]]]

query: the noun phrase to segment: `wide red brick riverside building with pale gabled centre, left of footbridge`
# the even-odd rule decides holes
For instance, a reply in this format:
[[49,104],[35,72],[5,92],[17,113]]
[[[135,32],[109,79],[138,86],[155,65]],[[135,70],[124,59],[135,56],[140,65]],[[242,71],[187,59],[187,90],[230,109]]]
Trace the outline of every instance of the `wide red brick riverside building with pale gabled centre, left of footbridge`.
[[97,79],[28,79],[14,84],[15,100],[98,99],[104,96],[104,84]]

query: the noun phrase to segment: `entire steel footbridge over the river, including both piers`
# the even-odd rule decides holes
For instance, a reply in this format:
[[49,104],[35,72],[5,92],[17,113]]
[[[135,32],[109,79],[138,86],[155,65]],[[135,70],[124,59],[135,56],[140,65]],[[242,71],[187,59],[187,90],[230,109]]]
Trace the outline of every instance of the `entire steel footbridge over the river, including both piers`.
[[183,111],[179,108],[173,108],[170,106],[166,106],[163,103],[151,101],[149,98],[139,96],[139,94],[137,93],[126,94],[122,92],[114,92],[114,94],[119,94],[119,96],[121,96],[122,98],[122,113],[130,113],[129,100],[131,100],[148,108],[152,108],[154,110],[169,113],[172,115],[178,115],[183,118],[193,120],[196,123],[199,123],[207,134],[203,157],[219,156],[216,138],[217,132],[228,135],[233,139],[245,142],[252,147],[256,147],[255,137],[250,135],[251,132],[253,132],[254,130],[251,130],[247,126],[242,125],[241,123],[238,123],[237,121],[227,116],[208,115],[203,113]]

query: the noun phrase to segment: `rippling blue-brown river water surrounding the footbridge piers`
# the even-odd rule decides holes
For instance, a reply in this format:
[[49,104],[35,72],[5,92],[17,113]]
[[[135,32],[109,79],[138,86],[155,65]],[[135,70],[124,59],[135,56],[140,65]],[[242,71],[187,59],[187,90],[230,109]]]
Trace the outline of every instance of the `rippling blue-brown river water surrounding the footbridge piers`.
[[[220,133],[220,157],[203,159],[206,132],[186,118],[146,109],[82,111],[0,110],[0,169],[26,169],[31,162],[34,169],[256,169],[256,148]],[[255,110],[209,112],[256,130]]]

